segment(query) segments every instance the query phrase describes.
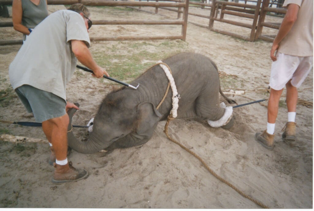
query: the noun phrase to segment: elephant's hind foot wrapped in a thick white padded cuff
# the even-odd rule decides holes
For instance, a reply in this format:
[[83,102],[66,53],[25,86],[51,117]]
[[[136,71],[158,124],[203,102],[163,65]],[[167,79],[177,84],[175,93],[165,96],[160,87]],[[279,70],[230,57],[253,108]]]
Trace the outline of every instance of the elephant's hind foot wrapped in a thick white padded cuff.
[[234,118],[232,116],[232,106],[226,106],[225,103],[220,103],[220,107],[225,108],[224,115],[217,121],[207,120],[207,122],[211,127],[214,128],[222,127],[224,129],[230,129],[234,124]]

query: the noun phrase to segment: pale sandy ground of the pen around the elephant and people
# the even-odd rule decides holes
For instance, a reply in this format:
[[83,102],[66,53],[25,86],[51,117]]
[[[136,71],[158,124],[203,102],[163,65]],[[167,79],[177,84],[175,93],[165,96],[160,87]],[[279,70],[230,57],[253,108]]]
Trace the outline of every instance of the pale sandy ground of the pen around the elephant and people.
[[[51,11],[59,8],[50,6]],[[170,16],[176,18],[176,13],[165,10],[160,10],[162,15],[108,8],[90,10],[94,19],[169,19]],[[209,13],[208,10],[191,8],[190,11],[192,10]],[[270,22],[282,20],[276,17],[268,18]],[[1,19],[9,20],[10,18]],[[208,19],[201,20],[192,16],[189,20],[208,23]],[[249,34],[249,31],[232,25],[215,22],[214,26],[244,35]],[[265,29],[265,32],[275,34],[268,29]],[[180,33],[181,27],[171,25],[149,29],[145,26],[95,25],[90,30],[90,36]],[[21,35],[11,28],[3,28],[0,31],[0,39],[20,37]],[[163,41],[145,41],[147,45],[143,45],[143,41],[93,42],[90,50],[95,54],[105,46],[115,45],[117,50],[127,51],[132,50],[129,44],[134,43],[146,46],[150,52],[154,52],[149,44],[159,42]],[[11,45],[0,48],[1,91],[10,87],[8,66],[19,47]],[[268,99],[267,92],[259,93],[256,89],[268,87],[270,47],[271,43],[266,41],[246,42],[188,24],[184,49],[177,50],[202,53],[212,58],[219,70],[232,79],[226,80],[227,83],[222,82],[223,90],[241,87],[246,91],[245,94],[231,96],[237,103],[242,104]],[[164,54],[161,53],[160,59],[163,58]],[[142,62],[145,62],[145,56]],[[81,109],[73,117],[73,124],[77,125],[87,124],[106,93],[119,87],[116,84],[100,82],[87,73],[83,75],[84,77],[74,75],[67,89],[68,99],[81,104]],[[312,87],[313,71],[300,87],[299,98],[312,102]],[[175,119],[170,123],[169,133],[200,156],[220,177],[266,206],[312,208],[313,109],[297,105],[298,140],[287,144],[281,139],[281,129],[287,121],[284,96],[285,91],[279,107],[273,151],[266,150],[254,140],[257,131],[266,129],[267,101],[235,108],[235,125],[230,130],[211,128],[206,122],[193,119]],[[2,103],[0,106],[1,120],[34,121],[16,96],[11,99],[9,105]],[[89,177],[61,185],[51,183],[53,167],[47,163],[50,153],[48,144],[16,145],[0,141],[0,207],[260,208],[219,181],[195,157],[168,140],[163,132],[164,125],[165,122],[160,122],[152,139],[142,146],[90,155],[72,151],[68,159],[73,161],[75,167],[87,169]],[[0,123],[0,129],[1,133],[45,139],[41,128]],[[82,135],[86,130],[76,129],[75,133]]]

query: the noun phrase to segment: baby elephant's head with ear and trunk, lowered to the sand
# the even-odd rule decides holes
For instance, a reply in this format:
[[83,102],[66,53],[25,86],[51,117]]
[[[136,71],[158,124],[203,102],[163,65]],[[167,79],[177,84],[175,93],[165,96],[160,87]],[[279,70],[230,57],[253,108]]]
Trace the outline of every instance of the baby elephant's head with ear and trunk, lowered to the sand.
[[78,141],[69,132],[68,145],[80,153],[140,145],[151,138],[161,116],[150,102],[136,104],[121,95],[109,95],[100,105],[88,140]]

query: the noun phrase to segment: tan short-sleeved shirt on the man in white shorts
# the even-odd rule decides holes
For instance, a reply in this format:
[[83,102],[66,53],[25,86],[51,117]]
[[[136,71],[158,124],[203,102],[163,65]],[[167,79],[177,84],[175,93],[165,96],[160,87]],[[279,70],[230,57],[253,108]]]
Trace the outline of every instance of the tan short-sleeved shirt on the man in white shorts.
[[313,0],[285,0],[300,6],[297,20],[289,33],[279,43],[280,53],[294,56],[313,56]]

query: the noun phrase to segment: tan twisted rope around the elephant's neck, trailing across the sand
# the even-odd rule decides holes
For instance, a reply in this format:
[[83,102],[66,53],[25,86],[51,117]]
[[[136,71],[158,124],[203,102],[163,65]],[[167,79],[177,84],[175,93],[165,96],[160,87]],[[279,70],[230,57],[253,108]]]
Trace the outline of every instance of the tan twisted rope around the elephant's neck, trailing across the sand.
[[[163,62],[161,62],[161,63],[162,63],[162,65],[167,66],[167,68],[169,69],[170,73],[172,74],[170,67],[169,67],[167,64],[163,63]],[[157,63],[157,64],[155,64],[154,66],[156,66],[156,65],[160,65],[160,62]],[[153,67],[153,66],[152,66],[152,67]],[[170,87],[170,82],[168,83],[168,86],[167,86],[167,89],[166,89],[166,92],[165,92],[164,97],[162,98],[162,100],[160,101],[160,103],[158,104],[158,106],[156,107],[157,110],[158,110],[158,108],[161,106],[161,104],[164,102],[164,100],[165,100],[165,98],[166,98],[166,96],[167,96],[167,94],[168,94],[169,87]],[[181,148],[185,149],[185,150],[186,150],[187,152],[189,152],[191,155],[193,155],[194,157],[196,157],[214,177],[216,177],[216,178],[219,179],[221,182],[224,182],[225,184],[227,184],[228,186],[230,186],[231,188],[233,188],[236,192],[238,192],[239,194],[241,194],[243,197],[245,197],[245,198],[247,198],[247,199],[250,199],[252,202],[256,203],[258,206],[260,206],[260,207],[262,207],[262,208],[266,208],[266,209],[269,208],[269,207],[267,207],[266,205],[264,205],[263,203],[258,202],[258,201],[255,200],[254,198],[252,198],[252,197],[246,195],[246,194],[243,193],[241,190],[239,190],[237,187],[235,187],[234,185],[232,185],[230,182],[226,181],[225,179],[223,179],[222,177],[220,177],[219,175],[217,175],[217,174],[203,161],[203,159],[202,159],[200,156],[198,156],[197,154],[195,154],[194,152],[192,152],[191,150],[189,150],[187,147],[185,147],[185,146],[182,145],[181,143],[179,143],[179,142],[177,142],[176,140],[172,139],[172,138],[170,137],[170,135],[168,134],[168,126],[169,126],[170,121],[173,120],[173,119],[175,119],[175,118],[172,117],[172,114],[170,113],[170,114],[168,115],[167,122],[166,122],[166,124],[165,124],[165,130],[164,130],[164,132],[165,132],[165,134],[166,134],[166,136],[168,137],[169,140],[171,140],[173,143],[179,145]]]

